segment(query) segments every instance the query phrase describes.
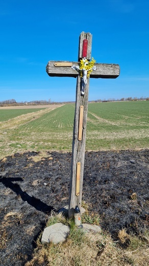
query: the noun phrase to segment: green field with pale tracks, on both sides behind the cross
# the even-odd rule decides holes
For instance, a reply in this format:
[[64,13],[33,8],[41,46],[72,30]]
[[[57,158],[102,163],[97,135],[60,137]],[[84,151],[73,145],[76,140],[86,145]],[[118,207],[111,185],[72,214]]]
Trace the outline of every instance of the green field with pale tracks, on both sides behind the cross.
[[[1,158],[24,150],[71,151],[74,109],[0,110]],[[148,148],[148,122],[149,101],[89,103],[86,150]]]

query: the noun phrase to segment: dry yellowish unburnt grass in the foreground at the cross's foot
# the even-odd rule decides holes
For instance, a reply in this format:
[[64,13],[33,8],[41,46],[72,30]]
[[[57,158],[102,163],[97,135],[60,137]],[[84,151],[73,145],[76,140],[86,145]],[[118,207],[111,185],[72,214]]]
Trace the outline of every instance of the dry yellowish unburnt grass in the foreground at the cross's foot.
[[[88,210],[87,216],[88,220],[93,219],[93,213],[89,213]],[[83,219],[85,220],[85,217]],[[147,266],[149,263],[146,236],[144,238],[129,235],[122,229],[118,233],[119,240],[113,241],[108,233],[85,233],[82,229],[77,229],[73,221],[54,213],[49,218],[47,226],[58,221],[70,226],[70,234],[66,241],[58,245],[52,242],[42,245],[39,237],[33,258],[25,266]],[[122,249],[119,244],[125,243],[128,239],[128,247]]]

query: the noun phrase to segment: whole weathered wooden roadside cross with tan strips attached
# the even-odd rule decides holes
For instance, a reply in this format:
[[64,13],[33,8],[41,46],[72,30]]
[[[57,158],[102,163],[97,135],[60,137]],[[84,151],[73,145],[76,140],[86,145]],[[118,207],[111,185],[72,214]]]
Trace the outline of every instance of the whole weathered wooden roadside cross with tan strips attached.
[[[51,77],[77,77],[70,174],[69,218],[73,217],[76,205],[81,209],[89,78],[87,78],[83,94],[83,79],[80,77],[81,70],[79,69],[81,59],[86,58],[88,61],[91,59],[91,43],[92,35],[82,32],[79,39],[78,62],[49,61],[46,66],[46,72]],[[118,64],[95,63],[94,66],[95,70],[90,73],[90,78],[117,78],[119,76]]]

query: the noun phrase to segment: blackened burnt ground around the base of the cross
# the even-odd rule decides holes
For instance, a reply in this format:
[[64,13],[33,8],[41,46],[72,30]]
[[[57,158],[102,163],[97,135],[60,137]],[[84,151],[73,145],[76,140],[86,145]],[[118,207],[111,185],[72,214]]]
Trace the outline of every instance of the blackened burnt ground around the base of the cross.
[[[114,239],[148,228],[149,150],[85,153],[83,200]],[[0,160],[1,265],[30,261],[52,210],[68,204],[71,153],[16,153]]]

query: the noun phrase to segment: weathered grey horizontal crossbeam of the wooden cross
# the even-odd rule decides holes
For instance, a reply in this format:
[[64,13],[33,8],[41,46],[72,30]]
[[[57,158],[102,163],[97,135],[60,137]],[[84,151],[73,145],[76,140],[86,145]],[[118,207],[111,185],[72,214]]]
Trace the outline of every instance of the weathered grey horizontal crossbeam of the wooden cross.
[[[78,71],[65,66],[54,66],[57,62],[68,62],[68,61],[49,61],[46,65],[46,72],[50,77],[74,77],[78,76]],[[79,62],[71,62],[74,65],[79,65]],[[120,73],[118,64],[104,64],[95,63],[96,70],[92,71],[90,78],[117,78]]]

